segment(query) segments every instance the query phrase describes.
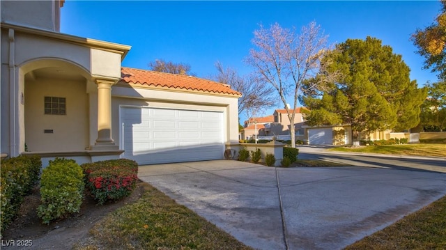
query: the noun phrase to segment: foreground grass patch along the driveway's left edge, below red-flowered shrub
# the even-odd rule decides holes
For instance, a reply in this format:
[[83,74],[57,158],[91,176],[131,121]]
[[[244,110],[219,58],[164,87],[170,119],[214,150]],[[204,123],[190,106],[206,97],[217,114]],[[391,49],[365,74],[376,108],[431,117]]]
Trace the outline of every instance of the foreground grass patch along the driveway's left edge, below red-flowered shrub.
[[135,203],[110,213],[77,249],[251,249],[147,183]]

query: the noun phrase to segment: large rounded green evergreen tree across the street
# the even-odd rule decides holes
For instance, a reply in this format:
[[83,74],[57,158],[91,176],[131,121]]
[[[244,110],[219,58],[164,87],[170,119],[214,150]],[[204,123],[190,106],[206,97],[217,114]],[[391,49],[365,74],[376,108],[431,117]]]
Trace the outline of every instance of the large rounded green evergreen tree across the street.
[[409,68],[401,55],[381,45],[376,38],[348,39],[328,52],[321,63],[325,71],[305,81],[340,72],[336,80],[300,98],[311,110],[305,114],[309,125],[349,124],[354,139],[361,132],[397,128],[409,129],[420,123],[424,89],[410,81]]

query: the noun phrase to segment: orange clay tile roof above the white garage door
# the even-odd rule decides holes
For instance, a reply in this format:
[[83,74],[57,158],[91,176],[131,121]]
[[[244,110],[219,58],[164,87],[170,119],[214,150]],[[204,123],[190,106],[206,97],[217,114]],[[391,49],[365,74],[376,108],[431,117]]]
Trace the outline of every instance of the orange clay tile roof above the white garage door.
[[198,91],[235,96],[242,95],[240,92],[231,89],[229,85],[220,84],[216,81],[210,81],[187,75],[139,70],[136,68],[121,68],[121,82],[125,82],[130,85],[153,86],[155,88],[174,88],[185,91]]

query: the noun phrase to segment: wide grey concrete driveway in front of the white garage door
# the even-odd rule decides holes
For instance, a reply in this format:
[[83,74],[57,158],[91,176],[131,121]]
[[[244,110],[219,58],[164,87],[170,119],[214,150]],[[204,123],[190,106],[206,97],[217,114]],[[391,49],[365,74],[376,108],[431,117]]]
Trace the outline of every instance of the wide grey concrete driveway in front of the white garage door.
[[139,167],[139,178],[255,249],[341,249],[446,194],[446,174],[237,161]]

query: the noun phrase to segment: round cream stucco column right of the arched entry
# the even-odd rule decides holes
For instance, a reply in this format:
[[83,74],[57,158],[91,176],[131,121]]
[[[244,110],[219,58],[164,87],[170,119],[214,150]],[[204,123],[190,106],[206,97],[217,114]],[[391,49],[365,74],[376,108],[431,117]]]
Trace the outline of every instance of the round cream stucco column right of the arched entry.
[[115,81],[96,79],[95,83],[98,85],[98,139],[92,149],[114,149],[118,147],[112,139],[112,85]]

